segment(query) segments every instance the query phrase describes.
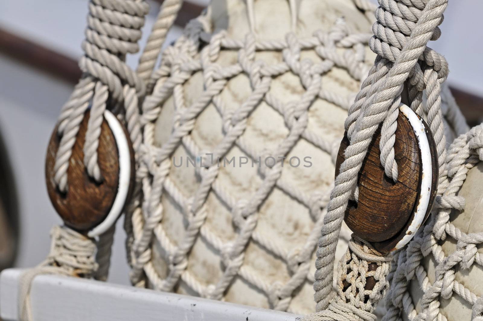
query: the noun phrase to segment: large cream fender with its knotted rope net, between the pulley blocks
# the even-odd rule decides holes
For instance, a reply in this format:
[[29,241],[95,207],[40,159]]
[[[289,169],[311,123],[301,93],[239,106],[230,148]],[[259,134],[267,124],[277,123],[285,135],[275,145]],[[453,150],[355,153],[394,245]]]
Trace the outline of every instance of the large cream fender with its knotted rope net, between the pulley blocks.
[[[164,51],[142,104],[143,203],[127,218],[131,281],[309,313],[343,119],[372,63],[370,34],[339,20],[310,37],[237,39],[212,31],[210,11]],[[331,79],[349,85],[333,90]],[[226,164],[233,156],[238,168]],[[318,163],[303,171],[289,163],[296,156],[302,169],[305,156]],[[199,157],[197,166],[180,165],[183,157]],[[339,257],[346,227],[340,239]]]

